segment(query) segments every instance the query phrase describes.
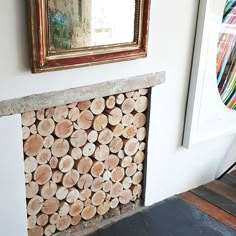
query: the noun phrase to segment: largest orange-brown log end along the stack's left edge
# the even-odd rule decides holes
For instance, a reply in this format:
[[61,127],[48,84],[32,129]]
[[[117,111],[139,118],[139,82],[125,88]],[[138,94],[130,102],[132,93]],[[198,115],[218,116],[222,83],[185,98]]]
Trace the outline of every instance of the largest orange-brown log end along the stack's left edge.
[[34,134],[31,135],[24,144],[24,152],[27,156],[36,156],[43,148],[43,138]]

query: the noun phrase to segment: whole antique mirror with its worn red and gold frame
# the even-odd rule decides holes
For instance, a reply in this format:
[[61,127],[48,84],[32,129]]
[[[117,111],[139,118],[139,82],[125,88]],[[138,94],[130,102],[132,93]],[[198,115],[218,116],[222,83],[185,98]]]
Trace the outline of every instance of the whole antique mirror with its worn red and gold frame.
[[145,57],[150,0],[29,0],[32,72]]

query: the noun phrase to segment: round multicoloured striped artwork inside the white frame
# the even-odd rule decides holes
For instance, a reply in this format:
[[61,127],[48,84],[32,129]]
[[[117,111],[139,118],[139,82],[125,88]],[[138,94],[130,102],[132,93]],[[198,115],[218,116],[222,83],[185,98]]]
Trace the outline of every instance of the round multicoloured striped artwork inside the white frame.
[[236,0],[227,0],[217,53],[217,84],[223,103],[236,110]]

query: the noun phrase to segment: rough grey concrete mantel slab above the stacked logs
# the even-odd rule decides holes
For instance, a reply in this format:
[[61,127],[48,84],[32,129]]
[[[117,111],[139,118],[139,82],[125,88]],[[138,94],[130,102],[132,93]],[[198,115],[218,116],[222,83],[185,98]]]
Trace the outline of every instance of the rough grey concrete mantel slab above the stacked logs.
[[4,100],[0,101],[0,117],[98,97],[106,97],[141,88],[150,88],[164,82],[165,72],[157,72],[128,79],[119,79],[78,88]]

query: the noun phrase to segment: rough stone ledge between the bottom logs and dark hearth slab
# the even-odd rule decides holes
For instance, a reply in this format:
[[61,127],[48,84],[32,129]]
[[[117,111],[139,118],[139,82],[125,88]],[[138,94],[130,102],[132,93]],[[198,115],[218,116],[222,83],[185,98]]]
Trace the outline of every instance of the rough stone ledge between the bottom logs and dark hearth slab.
[[88,227],[86,229],[83,229],[81,231],[76,231],[76,232],[75,231],[71,232],[71,230],[69,229],[69,230],[66,230],[66,231],[63,231],[63,232],[55,233],[55,234],[53,234],[53,236],[71,236],[72,233],[76,233],[76,236],[89,236],[90,234],[95,233],[99,229],[105,229],[105,228],[109,227],[110,225],[112,225],[113,223],[116,223],[116,222],[118,222],[120,220],[123,220],[127,217],[135,215],[138,212],[142,212],[145,209],[146,209],[145,206],[138,205],[134,209],[132,209],[128,212],[121,213],[120,215],[114,216],[112,218],[103,219],[96,226],[93,226],[93,227],[91,226],[91,227]]

